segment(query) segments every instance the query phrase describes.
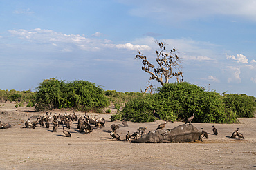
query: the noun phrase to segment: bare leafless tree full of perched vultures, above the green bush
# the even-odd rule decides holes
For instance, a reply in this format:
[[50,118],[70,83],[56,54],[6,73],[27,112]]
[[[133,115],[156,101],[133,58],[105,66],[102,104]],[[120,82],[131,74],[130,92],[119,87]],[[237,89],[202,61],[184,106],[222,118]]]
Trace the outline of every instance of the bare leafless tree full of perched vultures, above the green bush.
[[[156,43],[159,45],[159,51],[156,50],[156,62],[158,63],[158,67],[156,68],[152,63],[147,60],[147,56],[143,55],[140,50],[138,50],[138,55],[136,55],[135,59],[142,59],[143,67],[141,68],[145,72],[149,73],[151,77],[150,80],[156,79],[163,86],[165,83],[169,83],[169,80],[174,76],[177,79],[177,82],[183,81],[183,75],[180,71],[181,67],[181,59],[177,55],[178,52],[175,48],[168,52],[165,48],[166,43],[160,42]],[[174,69],[178,70],[174,72]],[[165,81],[163,80],[165,78]]]

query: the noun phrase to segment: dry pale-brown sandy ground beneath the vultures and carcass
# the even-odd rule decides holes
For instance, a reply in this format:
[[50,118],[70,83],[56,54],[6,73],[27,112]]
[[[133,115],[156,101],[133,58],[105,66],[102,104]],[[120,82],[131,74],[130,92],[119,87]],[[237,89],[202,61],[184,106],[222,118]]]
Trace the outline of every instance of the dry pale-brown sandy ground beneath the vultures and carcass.
[[[97,114],[106,118],[107,123],[91,134],[80,134],[77,123],[73,123],[72,137],[68,138],[64,137],[61,126],[57,132],[51,132],[52,124],[50,129],[20,128],[24,119],[33,116],[30,120],[36,120],[35,116],[45,112],[33,112],[33,107],[15,108],[15,103],[0,105],[0,120],[12,125],[10,129],[0,129],[0,169],[256,169],[256,118],[240,118],[240,124],[215,124],[218,136],[212,134],[212,124],[192,123],[208,132],[203,143],[134,144],[111,139],[111,114]],[[77,112],[79,116],[83,114]],[[163,121],[129,122],[129,127],[120,123],[117,132],[125,139],[127,131],[132,133],[138,127],[151,131],[160,123]],[[167,123],[165,128],[181,124]],[[245,140],[229,138],[237,127]]]

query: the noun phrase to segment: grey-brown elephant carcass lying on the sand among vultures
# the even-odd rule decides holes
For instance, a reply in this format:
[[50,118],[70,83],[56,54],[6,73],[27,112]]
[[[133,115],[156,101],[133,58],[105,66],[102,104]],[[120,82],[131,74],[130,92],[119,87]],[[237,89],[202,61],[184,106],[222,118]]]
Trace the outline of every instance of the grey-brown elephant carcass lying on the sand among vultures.
[[183,124],[173,129],[150,131],[134,143],[176,143],[201,140],[201,132],[192,124]]

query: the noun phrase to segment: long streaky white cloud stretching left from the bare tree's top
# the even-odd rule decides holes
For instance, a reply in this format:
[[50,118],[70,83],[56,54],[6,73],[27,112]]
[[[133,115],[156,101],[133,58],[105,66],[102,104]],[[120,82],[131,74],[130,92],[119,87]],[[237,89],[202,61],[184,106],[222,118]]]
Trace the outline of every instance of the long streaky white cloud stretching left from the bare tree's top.
[[[107,39],[87,38],[86,36],[80,36],[79,34],[62,34],[61,32],[53,32],[53,30],[42,30],[36,28],[33,30],[8,30],[12,36],[19,39],[25,39],[26,41],[37,44],[48,44],[54,47],[60,47],[61,51],[71,52],[73,50],[84,51],[98,51],[103,48],[116,48],[126,50],[149,50],[148,45],[134,45],[131,43],[125,44],[113,44]],[[95,36],[99,36],[100,33],[96,32]]]

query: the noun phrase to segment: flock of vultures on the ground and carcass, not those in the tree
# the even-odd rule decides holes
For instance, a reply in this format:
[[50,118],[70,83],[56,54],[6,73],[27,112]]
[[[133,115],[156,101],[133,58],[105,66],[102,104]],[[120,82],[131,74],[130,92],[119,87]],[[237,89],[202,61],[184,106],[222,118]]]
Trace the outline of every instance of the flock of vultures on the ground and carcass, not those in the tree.
[[[154,116],[156,118],[160,119],[160,116],[158,114],[156,114],[156,112],[153,112]],[[194,119],[194,114],[188,118],[185,121],[185,124],[187,123],[191,123],[192,120]],[[89,116],[88,114],[84,114],[83,116],[80,116],[78,118],[78,116],[75,114],[75,112],[73,112],[73,114],[58,114],[56,116],[52,115],[51,112],[50,114],[48,114],[48,112],[46,112],[46,114],[44,114],[44,116],[41,116],[40,118],[37,118],[37,120],[34,120],[32,122],[30,122],[30,118],[28,118],[28,120],[24,120],[25,121],[25,127],[21,127],[21,128],[32,128],[35,129],[35,127],[39,124],[40,127],[46,127],[46,128],[50,128],[50,123],[53,123],[53,129],[52,132],[57,131],[59,125],[62,125],[62,132],[65,136],[67,137],[71,137],[71,133],[68,131],[68,129],[71,129],[71,125],[73,124],[74,121],[77,121],[77,129],[80,133],[83,134],[89,134],[91,131],[93,131],[93,125],[95,128],[99,128],[101,129],[102,127],[105,126],[105,122],[106,120],[102,117],[97,117],[96,115],[93,116]],[[122,120],[122,124],[125,127],[128,127],[128,123],[125,120]],[[165,123],[161,123],[160,125],[158,125],[158,127],[156,128],[156,130],[158,129],[164,129],[165,125],[167,124],[167,122]],[[10,124],[8,123],[1,123],[0,121],[0,129],[7,129],[12,127]],[[66,127],[66,129],[65,129]],[[115,138],[116,140],[121,140],[120,135],[117,134],[116,130],[120,128],[120,124],[115,125],[112,124],[111,125],[111,133],[110,136],[112,138]],[[208,138],[208,133],[201,128],[201,136],[202,138]],[[125,136],[125,140],[129,141],[131,140],[131,138],[134,139],[138,139],[141,136],[143,136],[143,134],[146,134],[147,127],[139,127],[138,131],[134,132],[133,134],[129,134],[129,131],[127,131],[127,135]],[[243,134],[241,134],[239,131],[239,128],[237,128],[237,130],[235,130],[232,135],[230,136],[231,138],[236,138],[238,136],[239,139],[244,139]],[[214,135],[218,135],[218,131],[217,129],[212,126],[212,131]]]

